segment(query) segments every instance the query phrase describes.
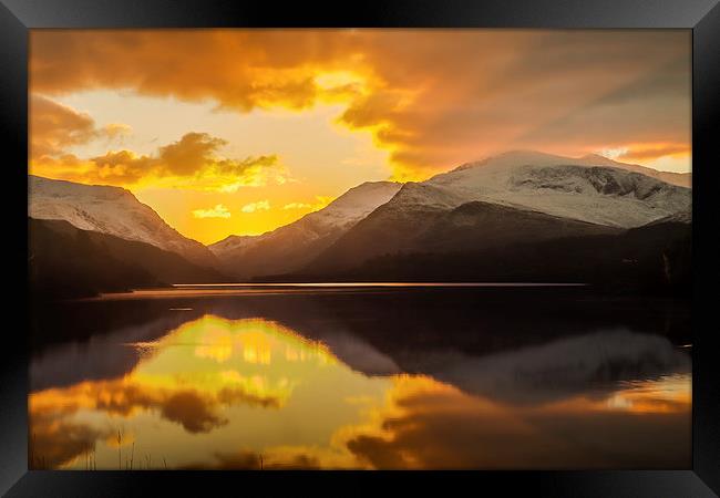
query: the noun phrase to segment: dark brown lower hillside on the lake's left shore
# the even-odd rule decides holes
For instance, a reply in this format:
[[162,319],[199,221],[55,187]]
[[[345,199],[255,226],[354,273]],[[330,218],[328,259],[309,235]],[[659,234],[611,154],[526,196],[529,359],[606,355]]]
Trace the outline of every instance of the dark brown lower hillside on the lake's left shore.
[[214,269],[145,242],[92,230],[64,220],[29,218],[29,279],[34,298],[91,297],[181,282],[218,282]]

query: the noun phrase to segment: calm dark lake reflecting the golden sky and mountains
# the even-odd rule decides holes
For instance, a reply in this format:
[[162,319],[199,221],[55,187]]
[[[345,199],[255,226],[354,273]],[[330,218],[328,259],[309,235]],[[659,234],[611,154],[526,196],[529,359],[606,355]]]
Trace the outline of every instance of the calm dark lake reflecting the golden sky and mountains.
[[33,468],[690,466],[677,302],[185,288],[34,314]]

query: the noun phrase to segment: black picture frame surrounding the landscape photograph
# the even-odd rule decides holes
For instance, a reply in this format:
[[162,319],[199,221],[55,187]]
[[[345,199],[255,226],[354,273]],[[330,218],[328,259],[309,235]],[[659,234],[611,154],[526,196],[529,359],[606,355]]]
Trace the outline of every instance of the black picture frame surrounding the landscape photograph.
[[[143,496],[199,494],[248,485],[272,496],[279,487],[309,490],[309,480],[330,480],[336,495],[377,492],[389,476],[402,486],[439,486],[445,492],[502,489],[554,497],[709,497],[720,494],[720,375],[713,326],[718,242],[713,212],[714,143],[720,110],[720,7],[718,0],[394,0],[309,4],[222,0],[0,0],[0,136],[4,155],[2,203],[8,232],[3,245],[17,271],[13,289],[27,289],[27,212],[19,206],[27,186],[28,39],[35,28],[214,28],[214,27],[418,27],[418,28],[679,28],[692,30],[693,159],[693,374],[692,469],[625,471],[457,473],[228,473],[228,471],[41,471],[28,470],[28,347],[31,312],[27,293],[10,307],[28,310],[6,322],[0,380],[0,492],[7,496]],[[697,165],[697,167],[696,167]],[[17,261],[17,262],[16,262]],[[23,271],[25,270],[25,271]],[[12,301],[11,301],[12,302]],[[317,484],[312,492],[321,491]],[[305,494],[305,492],[302,492]]]

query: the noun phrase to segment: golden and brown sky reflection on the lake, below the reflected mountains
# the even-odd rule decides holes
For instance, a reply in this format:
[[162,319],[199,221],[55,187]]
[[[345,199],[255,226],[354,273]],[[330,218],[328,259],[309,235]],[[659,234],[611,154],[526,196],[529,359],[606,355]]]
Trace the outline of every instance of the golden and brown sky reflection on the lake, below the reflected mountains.
[[528,404],[369,376],[263,319],[206,314],[119,347],[142,353],[125,375],[30,395],[33,468],[611,467],[689,424],[689,373]]

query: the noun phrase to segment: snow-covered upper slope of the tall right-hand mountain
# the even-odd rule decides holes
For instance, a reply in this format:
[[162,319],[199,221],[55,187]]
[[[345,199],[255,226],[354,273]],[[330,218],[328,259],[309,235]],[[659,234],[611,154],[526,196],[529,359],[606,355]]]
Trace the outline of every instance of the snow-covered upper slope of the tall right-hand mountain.
[[574,159],[515,151],[463,165],[424,184],[441,188],[443,199],[451,193],[462,199],[460,204],[491,201],[621,228],[690,211],[689,188],[621,168],[620,163],[607,166],[609,159],[599,157]]

